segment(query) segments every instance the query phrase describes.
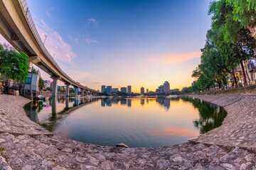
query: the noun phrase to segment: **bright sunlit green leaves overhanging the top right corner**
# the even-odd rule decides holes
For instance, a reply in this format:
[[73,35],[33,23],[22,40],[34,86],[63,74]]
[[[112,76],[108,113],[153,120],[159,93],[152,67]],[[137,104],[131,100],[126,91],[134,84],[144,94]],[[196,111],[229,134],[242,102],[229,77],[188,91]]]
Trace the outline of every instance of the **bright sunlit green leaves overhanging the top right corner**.
[[240,30],[256,26],[254,0],[212,1],[208,14],[212,15],[213,30],[221,30],[225,42],[233,42]]

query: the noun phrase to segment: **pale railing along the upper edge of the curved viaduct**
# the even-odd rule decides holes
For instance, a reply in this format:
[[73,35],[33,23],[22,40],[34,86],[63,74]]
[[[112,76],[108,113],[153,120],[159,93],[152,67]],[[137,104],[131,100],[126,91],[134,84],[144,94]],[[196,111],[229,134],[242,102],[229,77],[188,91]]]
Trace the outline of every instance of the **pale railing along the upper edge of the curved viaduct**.
[[[36,39],[38,40],[39,42],[39,45],[41,45],[41,48],[43,49],[43,52],[46,53],[47,57],[50,59],[51,62],[53,62],[53,64],[55,64],[55,67],[57,67],[59,69],[59,71],[61,72],[61,74],[64,74],[65,77],[67,77],[70,81],[73,82],[74,85],[78,84],[76,81],[74,81],[73,79],[71,79],[68,74],[65,74],[65,72],[63,72],[62,69],[60,69],[60,67],[58,66],[57,62],[55,62],[55,60],[53,59],[53,57],[50,55],[50,52],[48,52],[48,50],[46,49],[46,47],[44,46],[43,44],[43,41],[41,40],[41,37],[38,33],[38,30],[36,29],[36,25],[35,23],[33,22],[33,18],[31,16],[31,13],[29,11],[29,8],[28,8],[28,4],[27,4],[27,1],[26,0],[21,0],[21,5],[22,5],[22,8],[23,8],[23,11],[24,13],[26,14],[26,18],[28,19],[28,23],[30,24],[31,28],[32,28],[32,31],[34,33],[34,35],[36,36]],[[82,86],[82,85],[80,85]],[[92,90],[90,88],[87,88],[89,90]]]

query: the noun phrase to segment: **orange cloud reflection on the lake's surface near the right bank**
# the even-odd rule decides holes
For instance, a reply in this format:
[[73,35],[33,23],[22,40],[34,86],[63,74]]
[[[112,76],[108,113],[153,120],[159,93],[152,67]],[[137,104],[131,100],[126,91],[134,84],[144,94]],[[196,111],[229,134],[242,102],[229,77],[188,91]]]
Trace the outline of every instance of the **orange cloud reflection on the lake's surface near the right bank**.
[[149,134],[157,136],[196,137],[199,135],[199,132],[187,128],[168,127],[160,131],[151,131]]

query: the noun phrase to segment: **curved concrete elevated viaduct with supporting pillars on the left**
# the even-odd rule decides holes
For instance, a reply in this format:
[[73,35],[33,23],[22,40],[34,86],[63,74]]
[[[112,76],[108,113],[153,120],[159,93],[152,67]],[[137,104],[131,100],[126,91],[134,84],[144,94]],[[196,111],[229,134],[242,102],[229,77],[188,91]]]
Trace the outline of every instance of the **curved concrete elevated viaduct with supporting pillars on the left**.
[[74,86],[75,96],[78,96],[78,88],[82,89],[82,95],[97,94],[97,91],[68,77],[53,60],[36,30],[26,0],[0,0],[0,33],[13,47],[26,52],[30,66],[36,64],[50,74],[53,79],[53,98],[57,96],[58,80],[67,86],[66,96],[69,96],[70,86]]

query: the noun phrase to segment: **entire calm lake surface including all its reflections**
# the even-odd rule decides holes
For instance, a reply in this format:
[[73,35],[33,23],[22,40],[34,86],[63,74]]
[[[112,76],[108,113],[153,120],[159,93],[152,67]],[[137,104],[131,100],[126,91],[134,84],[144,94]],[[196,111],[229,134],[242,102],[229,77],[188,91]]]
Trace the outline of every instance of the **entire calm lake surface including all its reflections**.
[[[51,107],[53,105],[53,107]],[[225,110],[194,98],[68,98],[24,106],[31,120],[72,140],[156,147],[187,142],[221,125]]]

